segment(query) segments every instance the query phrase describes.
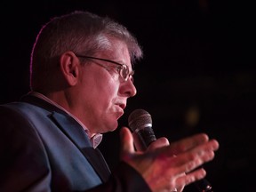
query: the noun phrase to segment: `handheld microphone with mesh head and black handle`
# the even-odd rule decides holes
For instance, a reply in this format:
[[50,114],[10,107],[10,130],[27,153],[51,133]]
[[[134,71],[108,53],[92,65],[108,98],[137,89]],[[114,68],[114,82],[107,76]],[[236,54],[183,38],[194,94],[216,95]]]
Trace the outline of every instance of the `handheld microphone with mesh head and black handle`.
[[[148,111],[144,109],[133,110],[128,117],[128,124],[132,130],[137,150],[145,151],[150,143],[156,140],[155,132],[152,129],[152,118]],[[208,180],[197,180],[194,184],[200,192],[213,192],[212,185]]]

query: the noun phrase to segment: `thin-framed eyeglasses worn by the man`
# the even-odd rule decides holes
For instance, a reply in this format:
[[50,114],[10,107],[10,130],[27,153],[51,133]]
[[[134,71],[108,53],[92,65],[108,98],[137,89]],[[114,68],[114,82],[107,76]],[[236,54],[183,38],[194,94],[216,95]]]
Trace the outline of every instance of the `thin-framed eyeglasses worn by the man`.
[[[85,58],[85,59],[92,59],[92,60],[103,60],[103,61],[107,61],[107,62],[110,62],[110,63],[114,63],[114,64],[118,65],[117,72],[124,79],[124,82],[127,81],[128,78],[131,78],[132,82],[133,82],[132,76],[134,75],[134,71],[132,70],[132,72],[130,73],[128,66],[125,65],[125,64],[118,63],[114,60],[106,60],[106,59],[101,59],[101,58],[96,58],[96,57],[91,57],[91,56],[84,56],[84,55],[79,55],[79,54],[76,54],[76,57],[81,57],[81,58]],[[104,67],[104,66],[102,66],[102,67]]]

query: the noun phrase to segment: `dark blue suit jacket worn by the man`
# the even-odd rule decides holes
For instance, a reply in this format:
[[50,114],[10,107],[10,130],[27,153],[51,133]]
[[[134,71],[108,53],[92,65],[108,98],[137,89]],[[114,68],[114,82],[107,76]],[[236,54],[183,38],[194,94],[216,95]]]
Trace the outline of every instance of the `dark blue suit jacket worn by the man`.
[[27,95],[0,106],[0,191],[150,190],[124,162],[110,174],[80,124]]

